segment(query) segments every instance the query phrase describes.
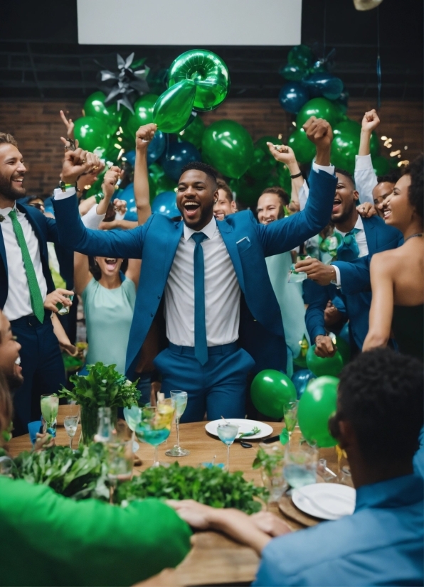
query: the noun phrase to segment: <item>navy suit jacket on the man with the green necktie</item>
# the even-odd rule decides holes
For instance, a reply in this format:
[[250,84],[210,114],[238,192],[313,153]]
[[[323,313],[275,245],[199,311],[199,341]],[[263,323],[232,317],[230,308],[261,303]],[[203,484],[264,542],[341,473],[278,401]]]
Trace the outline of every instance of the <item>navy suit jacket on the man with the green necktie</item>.
[[[51,279],[51,272],[48,268],[48,251],[47,242],[59,242],[58,229],[53,218],[48,218],[43,215],[40,210],[33,206],[26,206],[16,203],[16,208],[19,212],[23,212],[28,218],[33,231],[38,239],[41,254],[41,264],[43,266],[43,274],[47,282],[47,293],[55,289],[53,279]],[[4,247],[3,234],[1,232],[0,222],[0,308],[4,308],[6,299],[9,293],[9,271],[7,267],[6,248]]]

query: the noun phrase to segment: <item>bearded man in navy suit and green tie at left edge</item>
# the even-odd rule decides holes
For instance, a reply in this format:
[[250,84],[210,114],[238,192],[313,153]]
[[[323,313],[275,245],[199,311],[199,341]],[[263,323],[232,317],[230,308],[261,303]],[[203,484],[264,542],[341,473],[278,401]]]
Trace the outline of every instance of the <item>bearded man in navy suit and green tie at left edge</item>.
[[[95,164],[97,159],[90,161]],[[16,203],[25,195],[25,173],[14,137],[0,133],[0,308],[22,345],[24,378],[14,394],[14,436],[27,433],[28,422],[40,419],[41,394],[57,393],[65,382],[48,309],[54,303],[46,301],[55,289],[47,242],[58,242],[58,230],[55,220],[32,206]],[[57,292],[53,295],[58,297]],[[61,297],[68,304],[68,299]]]

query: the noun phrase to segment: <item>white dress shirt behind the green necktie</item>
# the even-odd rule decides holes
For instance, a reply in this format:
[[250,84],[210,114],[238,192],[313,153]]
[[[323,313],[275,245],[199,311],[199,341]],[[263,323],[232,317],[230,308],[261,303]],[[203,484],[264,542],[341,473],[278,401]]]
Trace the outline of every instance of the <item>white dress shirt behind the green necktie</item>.
[[[75,188],[72,188],[72,193],[69,193],[69,195],[73,195],[74,193]],[[45,300],[47,296],[47,283],[43,274],[43,266],[41,264],[40,247],[36,234],[33,231],[33,227],[28,222],[26,215],[23,212],[20,212],[16,207],[0,209],[0,215],[4,217],[4,220],[0,222],[0,230],[3,235],[4,247],[6,249],[7,271],[9,276],[9,291],[3,311],[9,321],[17,320],[18,318],[22,318],[22,316],[33,315],[31,298],[29,296],[28,279],[26,277],[25,266],[23,265],[21,247],[18,245],[11,217],[8,216],[9,212],[13,209],[16,209],[16,217],[22,227],[23,236],[25,237],[26,246],[28,247],[28,252],[31,256],[31,261],[33,262],[34,271],[36,272],[38,286],[40,287],[43,300]],[[86,214],[82,220],[88,227],[97,228],[105,215],[96,215],[95,208],[94,212],[91,212],[91,214],[90,212]]]

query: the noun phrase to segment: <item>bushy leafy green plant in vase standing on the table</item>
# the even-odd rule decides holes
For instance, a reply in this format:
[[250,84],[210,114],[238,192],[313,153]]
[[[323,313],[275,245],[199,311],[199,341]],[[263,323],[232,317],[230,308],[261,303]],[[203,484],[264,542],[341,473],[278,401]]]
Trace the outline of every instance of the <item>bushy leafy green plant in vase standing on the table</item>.
[[97,432],[97,411],[101,407],[111,408],[112,423],[117,421],[118,407],[131,407],[137,404],[140,392],[137,382],[132,383],[117,371],[116,365],[104,365],[97,362],[87,365],[88,375],[72,375],[69,379],[73,389],[60,389],[60,397],[75,401],[81,406],[82,441],[92,442]]

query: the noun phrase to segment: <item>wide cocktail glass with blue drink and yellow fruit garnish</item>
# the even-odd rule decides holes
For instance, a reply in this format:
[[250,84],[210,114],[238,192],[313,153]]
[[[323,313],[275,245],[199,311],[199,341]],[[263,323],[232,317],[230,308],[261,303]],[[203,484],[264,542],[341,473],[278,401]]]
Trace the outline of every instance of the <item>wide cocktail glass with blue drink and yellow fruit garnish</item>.
[[154,446],[154,467],[159,467],[157,447],[166,441],[166,438],[171,433],[173,416],[174,409],[166,404],[142,408],[142,419],[136,426],[135,435],[139,440]]

